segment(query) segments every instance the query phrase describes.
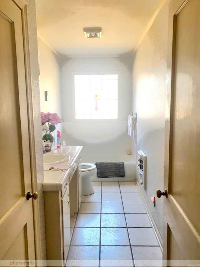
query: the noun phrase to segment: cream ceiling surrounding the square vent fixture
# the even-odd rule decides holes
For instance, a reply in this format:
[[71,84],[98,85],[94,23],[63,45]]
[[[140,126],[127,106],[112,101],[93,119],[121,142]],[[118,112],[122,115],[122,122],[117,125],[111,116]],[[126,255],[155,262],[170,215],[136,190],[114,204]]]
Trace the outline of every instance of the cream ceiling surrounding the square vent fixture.
[[[131,56],[163,0],[36,0],[37,32],[65,57]],[[83,28],[101,27],[102,38]]]

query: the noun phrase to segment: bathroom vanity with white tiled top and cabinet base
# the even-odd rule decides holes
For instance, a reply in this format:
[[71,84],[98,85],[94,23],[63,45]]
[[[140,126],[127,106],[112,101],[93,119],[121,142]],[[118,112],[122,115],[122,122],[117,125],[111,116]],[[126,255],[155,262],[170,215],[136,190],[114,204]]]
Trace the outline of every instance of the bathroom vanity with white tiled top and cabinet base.
[[[68,170],[44,171],[47,260],[51,260],[51,264],[54,264],[52,266],[66,264],[71,241],[70,218],[76,218],[82,197],[80,171],[82,148],[82,146],[55,147],[48,153],[53,157],[55,154],[70,157],[67,161],[61,160],[61,163],[56,163],[63,166],[70,165]],[[47,264],[47,266],[50,265]]]

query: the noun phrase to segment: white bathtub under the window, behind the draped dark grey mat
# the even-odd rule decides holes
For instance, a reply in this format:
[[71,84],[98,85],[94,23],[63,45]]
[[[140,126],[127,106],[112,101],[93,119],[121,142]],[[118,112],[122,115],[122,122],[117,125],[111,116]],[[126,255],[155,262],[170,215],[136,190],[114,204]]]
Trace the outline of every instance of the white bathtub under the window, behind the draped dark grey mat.
[[92,177],[92,182],[105,182],[105,181],[135,181],[136,178],[136,163],[133,155],[128,154],[82,154],[81,163],[95,162],[124,162],[125,177],[107,177],[98,178],[97,174]]

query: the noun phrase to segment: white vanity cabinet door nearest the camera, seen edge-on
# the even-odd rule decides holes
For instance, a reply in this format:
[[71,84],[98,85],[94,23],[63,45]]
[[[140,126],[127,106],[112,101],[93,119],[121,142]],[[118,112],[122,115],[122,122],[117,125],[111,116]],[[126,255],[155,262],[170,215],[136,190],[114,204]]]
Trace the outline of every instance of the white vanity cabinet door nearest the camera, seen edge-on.
[[68,256],[71,234],[70,234],[70,198],[69,186],[67,185],[66,191],[62,198],[62,217],[63,217],[63,260],[64,266]]

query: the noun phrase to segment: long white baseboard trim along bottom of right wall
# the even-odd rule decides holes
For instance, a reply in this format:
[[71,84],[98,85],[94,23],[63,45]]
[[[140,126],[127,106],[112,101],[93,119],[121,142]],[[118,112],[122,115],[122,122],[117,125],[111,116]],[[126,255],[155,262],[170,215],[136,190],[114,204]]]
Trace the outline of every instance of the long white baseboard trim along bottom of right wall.
[[155,233],[155,235],[156,235],[156,239],[158,240],[158,244],[159,244],[159,246],[160,246],[160,249],[161,249],[161,251],[163,252],[163,240],[162,240],[161,235],[160,235],[160,233],[159,233],[159,231],[158,231],[158,227],[156,226],[156,223],[155,223],[155,221],[154,221],[154,219],[153,219],[153,216],[152,216],[151,211],[150,211],[150,209],[149,209],[149,207],[148,207],[148,205],[147,205],[147,202],[146,202],[146,200],[145,200],[145,198],[144,198],[144,196],[143,196],[143,193],[142,193],[142,191],[141,191],[141,189],[140,189],[140,186],[139,186],[139,184],[138,184],[138,180],[137,180],[137,179],[135,180],[135,183],[136,183],[136,186],[137,186],[137,188],[138,188],[138,192],[139,192],[139,194],[140,194],[140,196],[141,196],[141,198],[142,198],[142,200],[143,200],[144,207],[145,207],[145,209],[146,209],[146,211],[147,211],[147,215],[148,215],[149,220],[150,220],[150,222],[151,222],[153,231],[154,231],[154,233]]

